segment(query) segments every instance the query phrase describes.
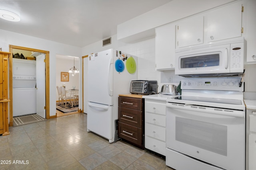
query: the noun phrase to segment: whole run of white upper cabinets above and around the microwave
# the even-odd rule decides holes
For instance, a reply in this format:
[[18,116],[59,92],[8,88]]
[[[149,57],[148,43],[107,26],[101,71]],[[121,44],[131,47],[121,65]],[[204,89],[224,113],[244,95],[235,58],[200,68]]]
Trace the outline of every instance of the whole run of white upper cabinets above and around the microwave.
[[156,28],[156,70],[174,69],[175,52],[241,37],[242,3],[247,4],[245,11],[248,10],[243,16],[245,30],[248,31],[243,36],[246,39],[247,35],[246,40],[250,42],[247,45],[247,62],[256,63],[256,0],[244,0]]

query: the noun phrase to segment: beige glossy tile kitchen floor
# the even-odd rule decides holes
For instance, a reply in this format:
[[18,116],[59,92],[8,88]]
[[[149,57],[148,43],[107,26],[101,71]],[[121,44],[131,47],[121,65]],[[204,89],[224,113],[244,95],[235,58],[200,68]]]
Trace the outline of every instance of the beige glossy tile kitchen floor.
[[150,152],[87,132],[86,119],[78,113],[10,127],[0,136],[0,170],[172,170]]

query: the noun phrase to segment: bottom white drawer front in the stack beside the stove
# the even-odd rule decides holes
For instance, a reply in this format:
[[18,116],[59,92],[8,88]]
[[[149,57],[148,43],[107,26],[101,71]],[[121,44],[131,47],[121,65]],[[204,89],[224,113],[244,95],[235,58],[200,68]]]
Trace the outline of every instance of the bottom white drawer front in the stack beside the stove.
[[166,156],[166,154],[165,154],[166,143],[164,143],[162,141],[158,141],[156,139],[152,139],[152,138],[146,136],[145,137],[145,148]]

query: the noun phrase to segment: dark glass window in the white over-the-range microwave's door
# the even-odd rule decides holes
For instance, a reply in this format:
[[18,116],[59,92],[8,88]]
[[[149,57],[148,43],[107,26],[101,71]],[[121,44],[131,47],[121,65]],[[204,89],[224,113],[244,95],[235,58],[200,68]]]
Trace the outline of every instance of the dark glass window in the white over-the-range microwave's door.
[[201,55],[196,57],[186,57],[180,60],[181,68],[197,68],[218,66],[220,64],[220,54]]

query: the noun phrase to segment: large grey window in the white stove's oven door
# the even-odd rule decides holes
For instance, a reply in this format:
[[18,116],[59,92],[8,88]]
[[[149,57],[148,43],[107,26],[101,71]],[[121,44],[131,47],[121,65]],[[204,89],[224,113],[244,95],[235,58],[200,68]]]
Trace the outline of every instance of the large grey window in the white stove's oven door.
[[227,156],[227,126],[176,117],[175,139]]

